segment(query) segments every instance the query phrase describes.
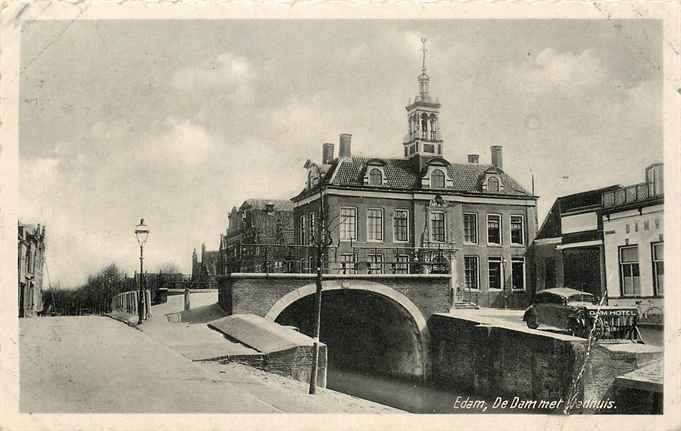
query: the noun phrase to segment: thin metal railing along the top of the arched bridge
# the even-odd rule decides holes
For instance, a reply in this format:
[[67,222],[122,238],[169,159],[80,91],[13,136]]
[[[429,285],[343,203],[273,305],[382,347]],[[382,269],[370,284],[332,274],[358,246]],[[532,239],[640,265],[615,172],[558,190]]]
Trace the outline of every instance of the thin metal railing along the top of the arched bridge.
[[[329,247],[322,272],[334,274],[448,274],[454,249],[428,247]],[[244,244],[225,256],[225,272],[315,273],[318,249],[314,246]]]

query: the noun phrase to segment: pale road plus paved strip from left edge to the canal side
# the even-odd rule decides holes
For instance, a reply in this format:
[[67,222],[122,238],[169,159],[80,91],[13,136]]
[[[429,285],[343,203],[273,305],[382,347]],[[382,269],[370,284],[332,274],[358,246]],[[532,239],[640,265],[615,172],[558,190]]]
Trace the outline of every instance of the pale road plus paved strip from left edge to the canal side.
[[388,413],[237,364],[193,362],[107,317],[20,319],[22,413]]

